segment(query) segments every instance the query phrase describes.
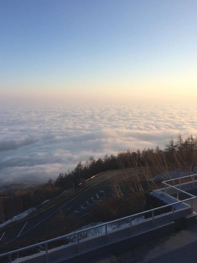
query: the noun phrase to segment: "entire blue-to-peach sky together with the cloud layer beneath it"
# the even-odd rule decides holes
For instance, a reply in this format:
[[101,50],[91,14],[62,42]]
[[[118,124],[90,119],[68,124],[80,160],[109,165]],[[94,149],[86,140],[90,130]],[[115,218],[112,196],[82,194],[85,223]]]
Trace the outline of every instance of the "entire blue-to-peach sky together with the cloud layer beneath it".
[[197,2],[0,0],[1,184],[197,134]]

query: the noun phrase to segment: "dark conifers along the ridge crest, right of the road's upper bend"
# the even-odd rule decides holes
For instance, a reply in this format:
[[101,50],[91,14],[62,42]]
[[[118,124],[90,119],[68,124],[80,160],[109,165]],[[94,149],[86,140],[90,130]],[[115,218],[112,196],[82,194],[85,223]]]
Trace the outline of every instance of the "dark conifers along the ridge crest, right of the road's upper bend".
[[73,183],[79,183],[80,178],[88,179],[98,173],[113,170],[117,168],[125,169],[131,167],[150,167],[152,177],[159,173],[167,173],[169,171],[181,168],[185,172],[195,170],[197,166],[197,137],[188,136],[183,140],[181,133],[176,139],[171,140],[160,149],[159,146],[154,148],[133,151],[130,149],[121,150],[117,156],[114,154],[106,154],[104,158],[97,160],[90,158],[82,163],[78,162],[73,171],[60,173],[55,181],[49,180],[58,186],[72,187]]

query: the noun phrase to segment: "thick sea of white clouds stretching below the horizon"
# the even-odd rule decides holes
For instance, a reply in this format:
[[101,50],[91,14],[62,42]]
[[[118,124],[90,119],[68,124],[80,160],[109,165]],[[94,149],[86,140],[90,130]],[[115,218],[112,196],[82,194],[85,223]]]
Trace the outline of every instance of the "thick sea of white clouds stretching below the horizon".
[[90,155],[103,158],[197,134],[197,107],[133,105],[1,110],[0,180],[44,183]]

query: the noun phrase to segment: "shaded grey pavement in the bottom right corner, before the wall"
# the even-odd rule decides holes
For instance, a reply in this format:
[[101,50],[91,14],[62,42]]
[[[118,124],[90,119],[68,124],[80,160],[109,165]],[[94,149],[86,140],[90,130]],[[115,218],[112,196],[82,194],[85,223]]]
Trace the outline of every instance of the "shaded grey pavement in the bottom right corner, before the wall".
[[197,224],[171,235],[149,241],[116,257],[124,263],[196,263]]

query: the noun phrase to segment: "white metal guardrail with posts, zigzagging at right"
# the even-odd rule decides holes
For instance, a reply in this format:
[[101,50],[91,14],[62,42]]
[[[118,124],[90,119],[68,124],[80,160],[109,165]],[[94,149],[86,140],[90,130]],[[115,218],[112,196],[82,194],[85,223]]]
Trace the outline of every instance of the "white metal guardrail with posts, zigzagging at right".
[[[46,263],[48,263],[48,244],[51,243],[51,242],[58,241],[58,240],[61,240],[61,239],[66,239],[66,238],[69,238],[71,236],[77,236],[77,238],[76,238],[76,240],[77,240],[77,248],[78,248],[78,251],[79,251],[79,243],[80,243],[80,240],[83,239],[83,238],[80,239],[80,234],[82,234],[83,232],[94,230],[96,228],[100,228],[100,227],[104,226],[105,227],[106,243],[107,243],[107,225],[119,222],[121,220],[130,219],[130,232],[132,233],[132,219],[134,219],[136,217],[143,216],[143,215],[145,215],[147,213],[152,212],[152,226],[154,227],[155,211],[158,211],[160,209],[167,208],[167,207],[172,207],[172,220],[174,220],[175,205],[179,204],[179,203],[183,203],[183,202],[189,201],[189,200],[191,200],[191,214],[192,214],[193,213],[192,202],[193,202],[193,199],[195,199],[197,197],[195,195],[191,195],[191,194],[181,190],[180,189],[181,188],[181,183],[180,182],[181,182],[181,179],[193,177],[193,186],[194,186],[194,177],[195,176],[197,176],[197,174],[195,174],[195,175],[188,175],[188,176],[184,176],[184,177],[180,177],[180,178],[176,178],[176,179],[170,179],[170,180],[166,180],[166,181],[162,182],[165,185],[165,193],[167,192],[167,186],[168,187],[172,187],[172,188],[177,190],[177,199],[179,197],[179,195],[178,195],[179,192],[183,192],[184,194],[187,194],[187,195],[191,196],[188,199],[184,199],[184,200],[181,200],[181,201],[178,201],[178,202],[175,202],[175,203],[167,204],[167,205],[164,205],[164,206],[161,206],[161,207],[158,207],[158,208],[153,208],[151,210],[140,212],[140,213],[137,213],[137,214],[134,214],[134,215],[131,215],[131,216],[126,216],[126,217],[123,217],[123,218],[120,218],[120,219],[117,219],[117,220],[109,221],[109,222],[106,222],[106,223],[103,223],[103,224],[96,225],[94,227],[90,227],[90,228],[86,228],[86,229],[79,230],[79,231],[76,231],[76,232],[72,232],[70,234],[67,234],[67,235],[64,235],[64,236],[59,236],[59,237],[56,237],[56,238],[53,238],[53,239],[50,239],[50,240],[46,240],[46,241],[43,241],[43,242],[40,242],[40,243],[37,243],[37,244],[34,244],[34,245],[30,245],[30,246],[27,246],[27,247],[24,247],[24,248],[21,248],[21,249],[16,249],[16,250],[13,250],[13,251],[10,251],[10,252],[7,252],[7,253],[3,253],[3,254],[0,255],[0,257],[8,256],[9,263],[10,263],[10,262],[12,262],[12,259],[11,259],[11,255],[12,254],[19,253],[19,252],[25,251],[27,249],[33,249],[35,247],[39,247],[39,246],[45,245]],[[175,180],[179,180],[179,188],[166,183],[166,182],[171,182],[171,181],[175,181]]]

